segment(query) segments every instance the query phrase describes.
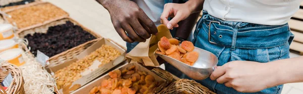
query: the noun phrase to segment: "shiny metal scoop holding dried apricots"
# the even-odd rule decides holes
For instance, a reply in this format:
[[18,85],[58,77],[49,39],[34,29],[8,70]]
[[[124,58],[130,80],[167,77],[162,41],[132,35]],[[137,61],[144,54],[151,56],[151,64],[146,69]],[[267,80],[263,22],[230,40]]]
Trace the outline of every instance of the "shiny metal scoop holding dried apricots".
[[218,58],[213,53],[196,47],[194,47],[193,51],[199,53],[198,60],[193,64],[193,66],[189,66],[166,55],[157,55],[194,80],[206,79],[212,74],[215,67],[217,67]]

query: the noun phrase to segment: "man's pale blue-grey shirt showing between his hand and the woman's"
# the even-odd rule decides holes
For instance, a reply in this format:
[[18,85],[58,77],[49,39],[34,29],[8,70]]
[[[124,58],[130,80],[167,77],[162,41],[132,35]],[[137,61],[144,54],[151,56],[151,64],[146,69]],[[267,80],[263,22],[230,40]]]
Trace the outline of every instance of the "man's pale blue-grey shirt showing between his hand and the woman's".
[[161,24],[161,14],[164,8],[164,0],[132,0],[145,12],[145,14],[156,24]]

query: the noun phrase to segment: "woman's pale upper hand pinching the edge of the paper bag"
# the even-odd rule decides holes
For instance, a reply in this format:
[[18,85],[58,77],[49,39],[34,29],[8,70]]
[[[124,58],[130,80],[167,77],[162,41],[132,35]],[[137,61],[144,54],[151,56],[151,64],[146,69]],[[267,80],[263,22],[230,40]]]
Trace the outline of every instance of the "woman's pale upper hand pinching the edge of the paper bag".
[[[184,4],[165,4],[161,23],[166,25],[168,29],[179,27],[178,22],[186,19],[190,14],[200,11],[203,8],[203,3],[204,0],[191,0]],[[173,19],[168,21],[169,17],[173,17]]]

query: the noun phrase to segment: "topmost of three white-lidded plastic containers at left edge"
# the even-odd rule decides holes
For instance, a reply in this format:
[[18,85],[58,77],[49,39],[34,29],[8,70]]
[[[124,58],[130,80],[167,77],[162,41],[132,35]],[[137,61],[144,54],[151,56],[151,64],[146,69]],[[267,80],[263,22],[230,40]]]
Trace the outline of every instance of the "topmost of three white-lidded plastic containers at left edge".
[[14,38],[13,25],[0,24],[0,40]]

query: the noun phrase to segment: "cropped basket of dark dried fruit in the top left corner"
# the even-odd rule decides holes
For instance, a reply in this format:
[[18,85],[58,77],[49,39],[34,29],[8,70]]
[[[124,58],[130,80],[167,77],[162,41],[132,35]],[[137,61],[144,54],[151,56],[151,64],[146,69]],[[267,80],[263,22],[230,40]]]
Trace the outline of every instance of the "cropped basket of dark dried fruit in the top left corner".
[[[7,0],[0,1],[1,4],[7,4],[7,2],[11,2],[11,1],[7,1]],[[10,7],[10,6],[17,6],[17,5],[25,5],[25,4],[32,3],[32,2],[35,2],[35,0],[17,1],[17,2],[13,2],[13,3],[9,3],[7,5],[0,5],[0,8]]]

